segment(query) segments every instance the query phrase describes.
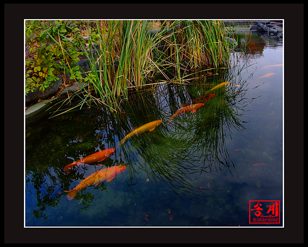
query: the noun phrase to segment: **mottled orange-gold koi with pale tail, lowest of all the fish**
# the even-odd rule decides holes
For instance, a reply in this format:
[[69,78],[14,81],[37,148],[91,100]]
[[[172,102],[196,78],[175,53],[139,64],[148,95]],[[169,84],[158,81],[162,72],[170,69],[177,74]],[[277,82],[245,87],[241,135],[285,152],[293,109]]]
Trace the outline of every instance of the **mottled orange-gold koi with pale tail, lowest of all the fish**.
[[126,170],[125,165],[116,165],[107,167],[105,169],[102,169],[98,172],[95,172],[91,174],[90,176],[87,176],[85,179],[83,179],[73,190],[64,190],[64,192],[67,192],[67,199],[70,201],[73,199],[76,195],[76,193],[79,190],[82,190],[83,188],[91,185],[98,185],[100,182],[107,181],[110,182],[117,174],[123,172]]

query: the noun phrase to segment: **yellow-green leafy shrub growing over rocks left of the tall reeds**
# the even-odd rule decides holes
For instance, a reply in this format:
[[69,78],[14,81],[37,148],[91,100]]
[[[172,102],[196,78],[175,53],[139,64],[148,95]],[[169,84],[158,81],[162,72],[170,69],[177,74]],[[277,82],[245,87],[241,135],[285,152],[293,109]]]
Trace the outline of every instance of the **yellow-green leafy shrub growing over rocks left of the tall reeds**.
[[85,43],[80,21],[26,21],[26,94],[35,88],[43,92],[57,75],[66,73],[83,55]]

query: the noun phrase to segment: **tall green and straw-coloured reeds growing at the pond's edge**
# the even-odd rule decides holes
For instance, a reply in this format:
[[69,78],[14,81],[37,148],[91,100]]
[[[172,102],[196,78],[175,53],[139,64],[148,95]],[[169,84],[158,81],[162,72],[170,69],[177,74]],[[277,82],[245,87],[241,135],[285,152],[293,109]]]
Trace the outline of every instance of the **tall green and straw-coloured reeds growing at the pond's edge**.
[[161,21],[161,28],[156,30],[155,23],[159,22],[95,22],[97,31],[89,33],[89,49],[81,44],[91,68],[84,79],[89,83],[87,100],[118,111],[121,100],[128,99],[129,89],[154,85],[158,75],[169,81],[167,74],[171,74],[181,83],[184,71],[228,65],[229,48],[224,40],[223,22]]

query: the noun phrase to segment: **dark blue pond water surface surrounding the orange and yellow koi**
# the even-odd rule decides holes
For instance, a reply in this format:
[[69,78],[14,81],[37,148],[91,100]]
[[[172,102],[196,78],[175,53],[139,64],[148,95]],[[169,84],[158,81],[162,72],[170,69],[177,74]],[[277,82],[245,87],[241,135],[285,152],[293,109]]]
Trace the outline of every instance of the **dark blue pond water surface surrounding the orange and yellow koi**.
[[[27,125],[25,226],[282,226],[282,43],[249,31],[239,40],[246,53],[232,53],[231,68],[132,93],[122,114],[91,107]],[[215,96],[168,123],[207,94]],[[118,145],[155,120],[162,122],[154,130]],[[115,150],[65,173],[104,149]],[[65,191],[116,165],[126,170],[67,199]],[[280,203],[279,224],[250,224],[257,203],[266,215],[264,201]]]

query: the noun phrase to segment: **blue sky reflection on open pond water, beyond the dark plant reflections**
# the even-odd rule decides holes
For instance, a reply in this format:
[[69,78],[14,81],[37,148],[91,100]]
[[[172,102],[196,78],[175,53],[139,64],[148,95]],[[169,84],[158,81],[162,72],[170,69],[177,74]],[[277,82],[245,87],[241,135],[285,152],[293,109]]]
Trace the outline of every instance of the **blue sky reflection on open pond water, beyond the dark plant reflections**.
[[[233,128],[230,130],[232,140],[229,134],[225,138],[226,150],[230,160],[235,165],[235,169],[233,167],[230,169],[232,175],[227,168],[222,166],[223,174],[216,172],[213,172],[213,174],[196,173],[192,177],[198,177],[198,179],[189,181],[193,186],[197,188],[202,186],[203,189],[208,189],[209,183],[211,190],[204,193],[206,197],[189,194],[196,201],[192,202],[185,196],[179,197],[176,195],[165,182],[159,180],[157,180],[157,184],[147,182],[148,176],[140,170],[138,164],[140,162],[141,165],[144,165],[145,159],[135,149],[129,149],[136,151],[128,157],[132,163],[137,161],[133,164],[134,169],[136,169],[136,173],[134,173],[136,178],[133,177],[132,181],[136,182],[132,186],[132,190],[136,194],[129,189],[121,176],[117,182],[112,181],[107,184],[108,193],[103,192],[100,195],[100,191],[94,190],[92,187],[85,190],[85,193],[91,191],[95,195],[95,200],[87,211],[79,209],[82,204],[77,206],[78,201],[67,202],[65,195],[63,195],[59,206],[47,207],[44,213],[50,219],[43,221],[42,219],[36,220],[32,216],[33,209],[37,209],[35,206],[37,201],[35,195],[26,192],[26,219],[31,222],[30,225],[36,225],[36,222],[40,222],[42,225],[78,226],[77,219],[79,218],[85,224],[93,226],[100,224],[112,226],[145,225],[148,223],[144,220],[144,213],[147,213],[152,226],[168,226],[168,223],[170,223],[169,215],[165,210],[171,208],[172,214],[175,216],[172,223],[176,225],[189,226],[195,223],[192,223],[192,220],[196,220],[195,225],[202,224],[202,226],[205,226],[207,221],[201,220],[203,217],[209,216],[208,222],[210,224],[225,226],[226,222],[228,224],[241,223],[248,220],[249,200],[282,200],[282,67],[260,70],[267,65],[282,63],[282,49],[281,47],[265,48],[262,57],[254,57],[251,60],[257,63],[253,63],[252,66],[241,73],[241,82],[247,81],[244,87],[248,85],[245,98],[255,98],[250,105],[246,106],[247,111],[241,116],[242,121],[245,119],[244,121],[248,122],[242,123],[246,130],[237,131]],[[267,73],[275,73],[275,75],[257,79]],[[165,85],[160,86],[158,91],[162,91],[160,88],[163,89],[164,87]],[[163,97],[160,99],[160,106],[162,106],[162,109],[169,108],[168,101],[164,100]],[[171,117],[172,114],[167,112],[167,115]],[[195,115],[188,116],[195,117]],[[179,119],[184,117],[185,115],[179,116]],[[185,126],[184,123],[182,125]],[[167,134],[174,132],[175,126],[168,125]],[[159,132],[160,128],[166,128],[166,126],[162,124],[156,132]],[[148,132],[146,134],[150,135]],[[151,133],[151,135],[154,134],[155,132]],[[117,138],[116,135],[115,138]],[[118,141],[115,140],[116,143]],[[130,140],[126,144],[129,143]],[[234,151],[234,149],[241,150]],[[120,155],[125,159],[121,149],[119,149],[115,152],[112,160],[121,160]],[[260,162],[265,164],[253,166],[254,163]],[[100,168],[102,167],[87,165],[84,177]],[[56,176],[53,172],[51,174]],[[127,170],[123,175],[129,182],[128,174]],[[47,179],[46,182],[51,185],[49,181]],[[80,181],[71,182],[70,189],[74,188],[78,182]],[[31,191],[35,193],[35,190],[31,189]],[[58,191],[59,188],[55,193]],[[98,199],[99,195],[101,196],[100,199]],[[196,218],[193,218],[194,216]],[[113,217],[112,220],[111,217]],[[162,221],[164,217],[166,221]],[[197,217],[201,218],[197,220]]]

